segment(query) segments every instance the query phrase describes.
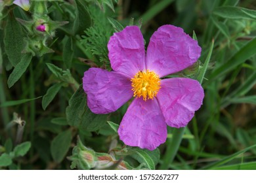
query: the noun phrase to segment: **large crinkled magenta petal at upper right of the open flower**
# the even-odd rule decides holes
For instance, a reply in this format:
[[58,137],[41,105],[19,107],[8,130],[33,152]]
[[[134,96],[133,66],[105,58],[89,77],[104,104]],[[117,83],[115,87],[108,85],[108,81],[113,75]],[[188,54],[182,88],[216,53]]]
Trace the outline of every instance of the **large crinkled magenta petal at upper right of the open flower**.
[[200,57],[198,42],[180,27],[161,26],[150,38],[146,54],[146,69],[162,76],[177,73]]

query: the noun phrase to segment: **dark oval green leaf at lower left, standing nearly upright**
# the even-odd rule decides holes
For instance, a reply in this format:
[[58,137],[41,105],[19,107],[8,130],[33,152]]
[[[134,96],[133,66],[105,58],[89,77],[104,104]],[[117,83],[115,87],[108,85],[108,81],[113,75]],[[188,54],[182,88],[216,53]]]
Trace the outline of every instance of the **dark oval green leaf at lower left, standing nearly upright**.
[[58,134],[51,142],[51,154],[54,161],[60,163],[66,156],[72,141],[70,130]]

